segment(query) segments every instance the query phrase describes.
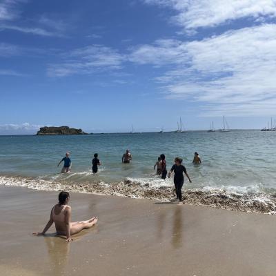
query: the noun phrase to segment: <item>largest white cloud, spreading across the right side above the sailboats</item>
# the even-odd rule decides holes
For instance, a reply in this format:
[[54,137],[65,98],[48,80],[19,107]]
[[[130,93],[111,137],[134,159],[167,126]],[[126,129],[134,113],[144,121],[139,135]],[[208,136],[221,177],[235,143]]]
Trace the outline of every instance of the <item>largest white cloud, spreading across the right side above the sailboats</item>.
[[[168,40],[140,48],[132,53],[136,57],[132,61],[155,66],[165,57],[168,65],[175,66],[157,78],[166,97],[202,103],[201,115],[275,113],[275,24],[231,30],[201,41]],[[143,49],[147,49],[144,56]]]

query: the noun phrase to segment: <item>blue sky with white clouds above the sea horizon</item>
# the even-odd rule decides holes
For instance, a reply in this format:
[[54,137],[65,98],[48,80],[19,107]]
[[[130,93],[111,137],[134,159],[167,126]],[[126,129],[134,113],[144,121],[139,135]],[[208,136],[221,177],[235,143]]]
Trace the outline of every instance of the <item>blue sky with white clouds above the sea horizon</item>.
[[0,135],[263,128],[275,106],[276,0],[0,0]]

